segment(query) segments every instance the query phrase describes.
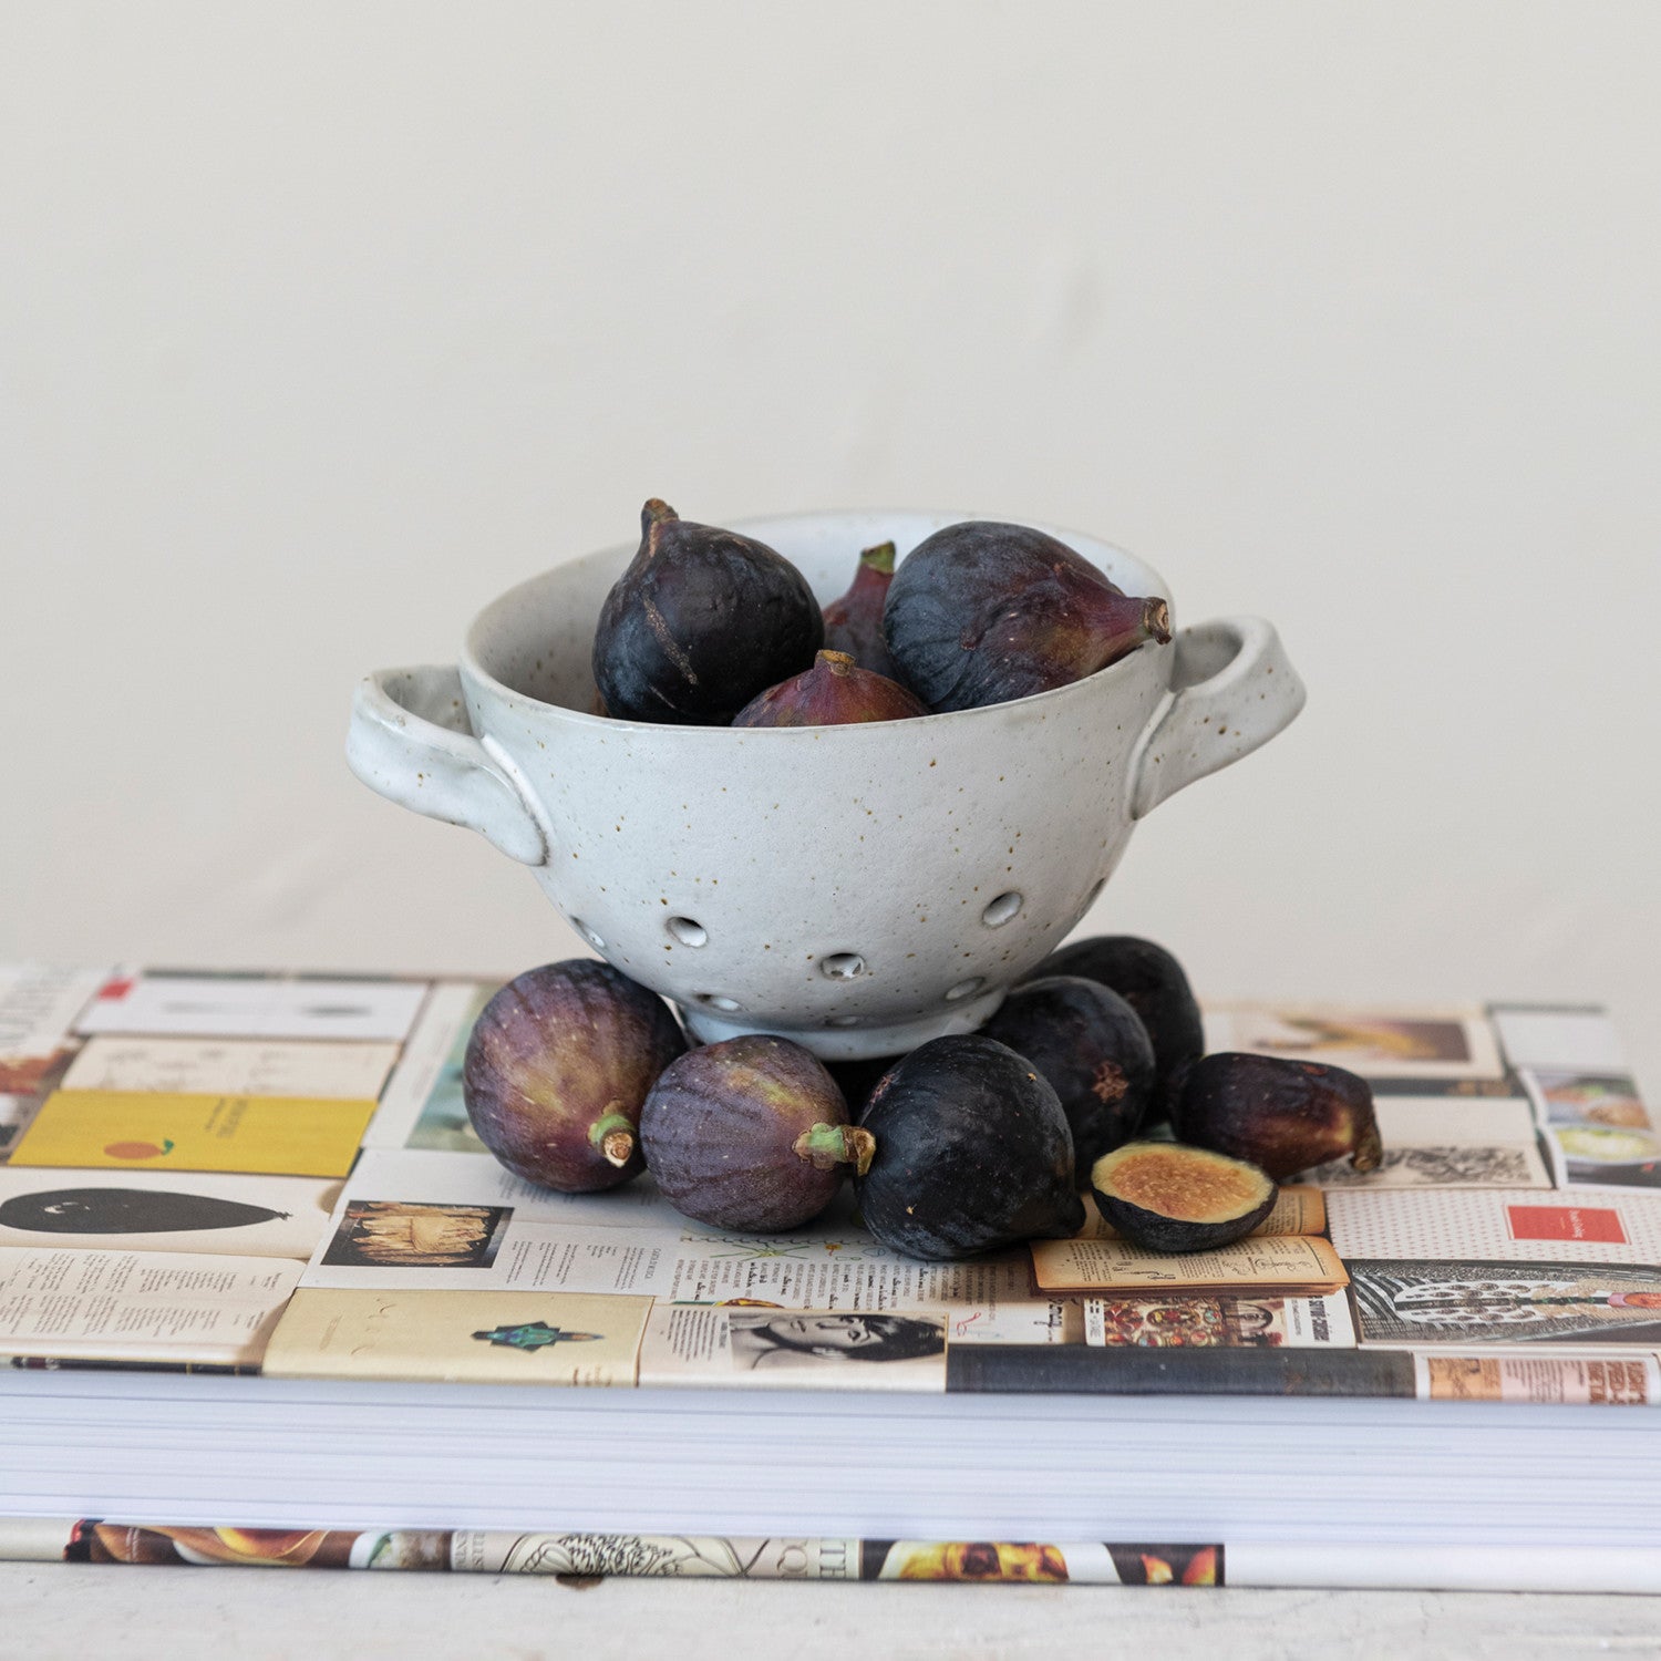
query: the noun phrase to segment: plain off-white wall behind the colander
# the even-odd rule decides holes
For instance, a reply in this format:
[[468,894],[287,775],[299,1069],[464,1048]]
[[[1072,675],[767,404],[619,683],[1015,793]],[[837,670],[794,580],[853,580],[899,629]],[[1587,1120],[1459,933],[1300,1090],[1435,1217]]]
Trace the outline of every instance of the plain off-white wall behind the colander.
[[517,970],[354,681],[693,518],[1096,530],[1297,726],[1091,919],[1661,1098],[1661,10],[3,5],[0,955]]

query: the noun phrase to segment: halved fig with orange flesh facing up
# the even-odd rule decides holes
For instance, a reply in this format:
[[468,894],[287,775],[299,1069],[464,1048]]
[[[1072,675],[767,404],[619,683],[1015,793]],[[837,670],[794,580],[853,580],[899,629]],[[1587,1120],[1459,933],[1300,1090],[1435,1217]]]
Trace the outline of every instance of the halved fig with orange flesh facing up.
[[1144,1251],[1211,1251],[1244,1239],[1274,1209],[1274,1178],[1244,1159],[1183,1143],[1126,1143],[1090,1168],[1101,1216]]

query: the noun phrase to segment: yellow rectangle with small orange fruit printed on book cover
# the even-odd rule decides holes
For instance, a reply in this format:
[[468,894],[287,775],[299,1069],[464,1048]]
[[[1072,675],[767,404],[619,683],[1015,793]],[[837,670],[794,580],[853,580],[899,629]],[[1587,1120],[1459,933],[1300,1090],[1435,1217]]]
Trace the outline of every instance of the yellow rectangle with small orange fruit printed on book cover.
[[374,1101],[60,1090],[10,1164],[345,1176]]

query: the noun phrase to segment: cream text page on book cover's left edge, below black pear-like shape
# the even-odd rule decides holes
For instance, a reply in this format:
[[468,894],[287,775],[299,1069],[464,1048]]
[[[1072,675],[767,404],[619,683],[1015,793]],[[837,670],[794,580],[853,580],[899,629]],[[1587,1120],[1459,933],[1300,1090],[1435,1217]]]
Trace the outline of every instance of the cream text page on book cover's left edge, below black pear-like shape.
[[274,1257],[0,1247],[0,1355],[254,1364],[299,1271]]

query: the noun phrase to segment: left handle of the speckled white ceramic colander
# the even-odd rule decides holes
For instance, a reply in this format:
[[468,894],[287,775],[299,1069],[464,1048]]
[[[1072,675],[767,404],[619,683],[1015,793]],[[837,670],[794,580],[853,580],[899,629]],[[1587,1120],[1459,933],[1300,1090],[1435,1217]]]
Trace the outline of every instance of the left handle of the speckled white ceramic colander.
[[546,864],[550,835],[498,744],[478,739],[453,668],[382,669],[352,698],[345,764],[372,791]]

